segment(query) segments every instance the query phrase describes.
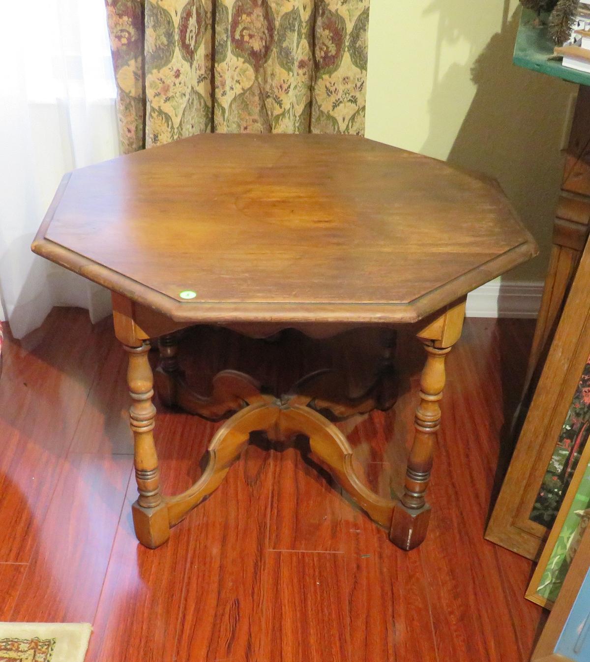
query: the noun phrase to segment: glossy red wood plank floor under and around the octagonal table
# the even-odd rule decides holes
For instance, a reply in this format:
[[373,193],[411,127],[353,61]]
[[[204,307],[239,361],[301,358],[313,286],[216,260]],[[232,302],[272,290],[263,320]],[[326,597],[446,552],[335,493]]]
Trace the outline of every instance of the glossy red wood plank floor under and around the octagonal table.
[[[261,442],[150,551],[132,532],[123,352],[110,320],[55,309],[5,346],[0,620],[91,622],[88,662],[528,661],[543,620],[523,598],[531,563],[483,532],[531,335],[532,322],[467,320],[419,549],[391,545],[297,449]],[[281,344],[207,338],[202,383],[222,363],[280,381],[276,365],[300,361]],[[400,481],[422,360],[410,338],[398,347],[396,406],[339,424],[384,494]],[[216,426],[159,408],[165,492],[198,477]]]

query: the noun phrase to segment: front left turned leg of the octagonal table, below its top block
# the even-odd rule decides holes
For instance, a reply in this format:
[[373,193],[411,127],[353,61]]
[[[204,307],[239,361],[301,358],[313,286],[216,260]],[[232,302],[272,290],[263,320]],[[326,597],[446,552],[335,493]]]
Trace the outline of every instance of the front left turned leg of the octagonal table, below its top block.
[[168,511],[159,491],[157,454],[153,441],[155,406],[153,375],[147,359],[149,343],[125,346],[129,354],[127,383],[132,397],[129,419],[134,437],[135,477],[138,500],[133,504],[133,523],[138,540],[146,547],[158,547],[170,536]]

